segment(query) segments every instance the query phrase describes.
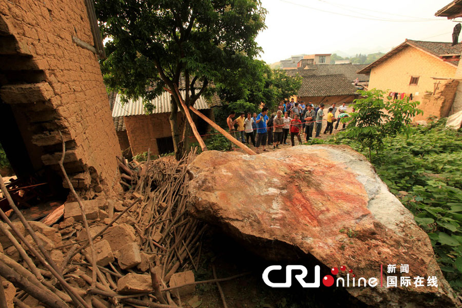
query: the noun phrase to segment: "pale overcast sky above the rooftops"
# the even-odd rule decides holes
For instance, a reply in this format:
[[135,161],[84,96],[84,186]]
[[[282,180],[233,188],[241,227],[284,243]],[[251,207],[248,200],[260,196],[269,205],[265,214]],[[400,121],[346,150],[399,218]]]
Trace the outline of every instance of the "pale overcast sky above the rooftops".
[[[291,55],[388,52],[410,40],[451,42],[455,22],[435,13],[451,0],[261,0],[257,37],[268,64]],[[349,16],[345,16],[349,15]],[[462,18],[457,18],[462,20]],[[462,33],[459,42],[462,40]]]

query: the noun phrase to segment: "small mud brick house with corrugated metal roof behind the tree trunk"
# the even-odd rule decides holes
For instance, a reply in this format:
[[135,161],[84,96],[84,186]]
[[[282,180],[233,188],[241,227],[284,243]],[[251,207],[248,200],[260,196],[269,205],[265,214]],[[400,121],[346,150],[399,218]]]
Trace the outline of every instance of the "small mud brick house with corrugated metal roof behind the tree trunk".
[[[184,98],[185,90],[180,90],[180,92]],[[163,92],[151,101],[155,106],[153,112],[146,114],[141,99],[137,101],[130,100],[128,103],[122,104],[121,97],[117,94],[113,103],[112,118],[121,149],[125,154],[131,151],[134,156],[138,153],[147,152],[148,149],[153,155],[174,151],[169,122],[170,100],[170,94],[166,91]],[[214,120],[213,107],[216,106],[221,106],[217,95],[210,100],[201,96],[194,104],[196,109],[211,120]],[[195,113],[191,112],[191,117],[201,135],[210,131],[209,125]],[[178,112],[177,123],[180,125],[180,129],[183,129],[185,120],[182,113]],[[191,138],[190,142],[197,141],[192,133],[189,138]]]

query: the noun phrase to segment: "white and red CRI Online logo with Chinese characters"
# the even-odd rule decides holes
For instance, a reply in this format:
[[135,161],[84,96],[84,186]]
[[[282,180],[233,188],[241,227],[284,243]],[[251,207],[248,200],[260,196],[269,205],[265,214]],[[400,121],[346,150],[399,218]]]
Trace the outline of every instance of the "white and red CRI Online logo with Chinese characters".
[[[300,283],[302,287],[319,287],[320,286],[320,267],[319,265],[315,266],[314,270],[314,282],[305,282],[304,278],[308,274],[308,271],[305,266],[303,265],[287,265],[285,268],[285,282],[272,282],[269,280],[268,276],[269,273],[272,271],[280,271],[282,269],[281,265],[271,265],[265,268],[263,271],[263,281],[266,283],[266,285],[271,286],[271,287],[290,287],[292,286],[292,276],[295,277],[295,279]],[[397,287],[398,286],[398,281],[399,286],[405,286],[408,287],[411,284],[414,284],[415,287],[423,287],[425,286],[425,277],[413,277],[413,281],[410,276],[395,276],[397,273],[397,268],[396,264],[388,264],[387,266],[387,275],[386,277],[383,277],[383,272],[382,272],[382,265],[380,265],[380,286],[384,286],[386,284],[386,287]],[[301,274],[296,274],[292,275],[292,271],[301,271]],[[356,280],[356,275],[353,274],[352,269],[348,269],[347,267],[342,265],[340,266],[340,272],[344,272],[346,275],[346,286],[350,286],[350,275],[352,278],[352,286],[370,286],[370,287],[376,287],[379,284],[378,278],[376,277],[371,277],[369,279],[360,277]],[[332,267],[331,268],[331,274],[332,275],[337,275],[340,273],[339,269],[337,267]],[[409,265],[408,264],[401,264],[400,266],[400,273],[402,275],[409,275]],[[332,275],[325,275],[322,278],[322,284],[325,286],[332,286],[335,283],[335,279]],[[337,277],[337,283],[336,286],[345,286],[345,278],[344,277]],[[386,283],[384,283],[384,280]],[[362,285],[361,285],[362,284]],[[437,277],[435,276],[428,276],[427,278],[427,286],[430,287],[438,287],[438,280]]]

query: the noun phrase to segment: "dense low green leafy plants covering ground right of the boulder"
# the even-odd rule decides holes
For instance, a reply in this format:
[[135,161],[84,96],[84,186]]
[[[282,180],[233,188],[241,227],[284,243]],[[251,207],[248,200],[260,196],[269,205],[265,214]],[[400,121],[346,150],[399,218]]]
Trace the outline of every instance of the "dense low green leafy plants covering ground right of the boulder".
[[[383,139],[373,156],[377,174],[415,216],[432,242],[436,259],[455,290],[462,290],[462,131],[446,119]],[[326,141],[361,145],[341,132]],[[363,151],[366,154],[365,150]]]

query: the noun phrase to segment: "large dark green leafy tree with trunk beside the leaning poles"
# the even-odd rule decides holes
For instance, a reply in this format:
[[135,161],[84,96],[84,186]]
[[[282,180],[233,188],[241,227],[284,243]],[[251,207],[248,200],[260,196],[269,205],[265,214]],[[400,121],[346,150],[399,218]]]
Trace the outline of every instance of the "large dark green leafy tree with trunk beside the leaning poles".
[[126,99],[145,99],[148,110],[164,87],[173,93],[177,158],[190,132],[187,122],[183,132],[176,122],[177,112],[184,113],[175,91],[182,76],[191,106],[211,81],[239,88],[239,80],[251,78],[249,68],[261,51],[255,38],[265,28],[266,10],[259,0],[97,0],[95,9],[109,39],[102,62],[106,85]]

